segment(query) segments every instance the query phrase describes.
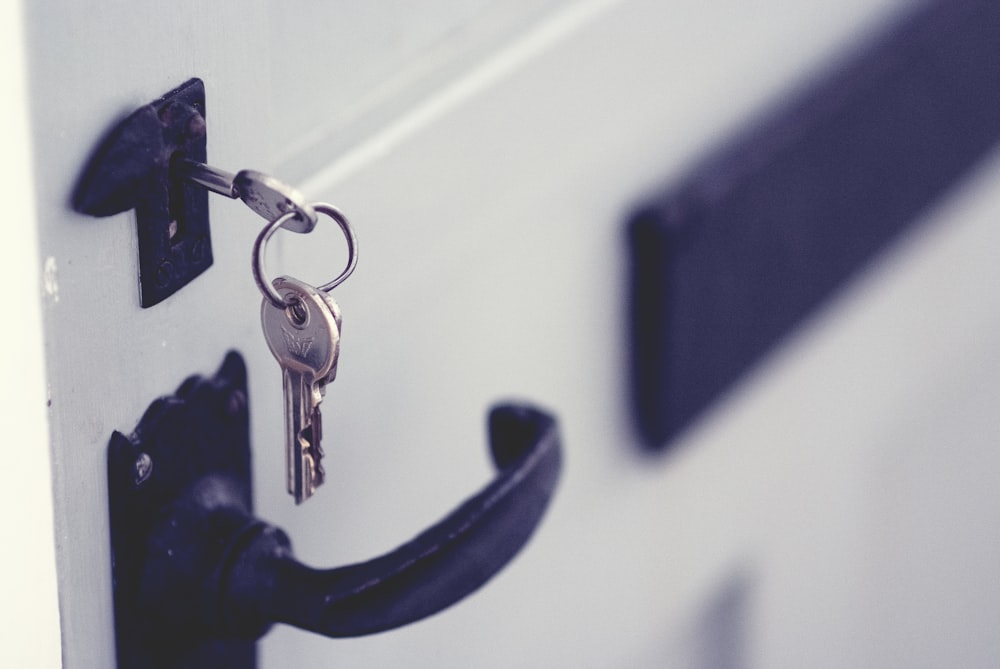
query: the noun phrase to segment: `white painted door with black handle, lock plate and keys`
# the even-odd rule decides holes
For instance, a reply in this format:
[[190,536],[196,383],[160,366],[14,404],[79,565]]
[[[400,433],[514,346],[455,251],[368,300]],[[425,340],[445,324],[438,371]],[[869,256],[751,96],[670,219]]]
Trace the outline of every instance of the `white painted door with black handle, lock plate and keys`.
[[[31,298],[28,350],[44,342],[45,394],[24,406],[51,444],[65,666],[114,658],[112,430],[230,348],[250,372],[257,513],[310,564],[392,548],[478,488],[498,399],[551,408],[567,449],[539,534],[481,592],[370,638],[276,628],[263,667],[989,666],[1000,157],[669,457],[639,455],[625,399],[628,208],[908,5],[23,3],[5,34],[26,56],[35,212],[18,234],[38,252],[7,290]],[[213,196],[213,267],[141,309],[134,216],[68,206],[109,125],[192,76],[211,164],[334,202],[359,237],[335,291],[328,481],[301,507],[250,274],[260,220]],[[341,261],[325,234],[282,238],[275,271],[324,280]],[[47,527],[44,503],[4,501]],[[51,593],[36,606],[54,618]],[[5,629],[28,637],[16,610]]]

